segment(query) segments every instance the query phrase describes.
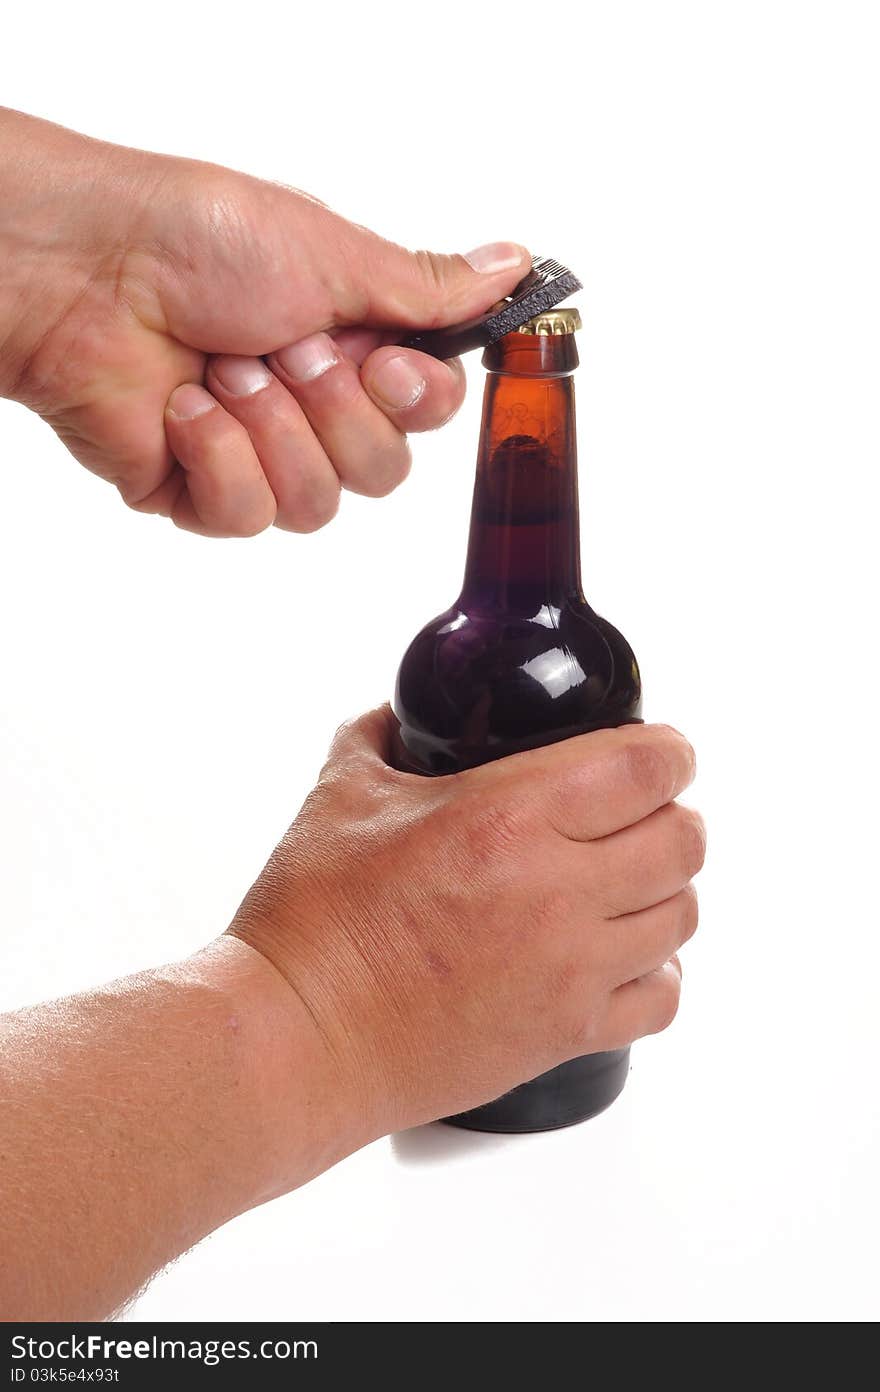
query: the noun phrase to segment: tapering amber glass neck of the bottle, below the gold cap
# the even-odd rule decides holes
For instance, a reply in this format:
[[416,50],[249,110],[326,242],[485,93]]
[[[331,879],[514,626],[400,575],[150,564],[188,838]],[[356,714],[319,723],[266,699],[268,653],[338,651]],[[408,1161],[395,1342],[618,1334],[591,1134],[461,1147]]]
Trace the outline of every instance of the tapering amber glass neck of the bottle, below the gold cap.
[[532,615],[581,590],[572,334],[508,334],[489,367],[461,607]]

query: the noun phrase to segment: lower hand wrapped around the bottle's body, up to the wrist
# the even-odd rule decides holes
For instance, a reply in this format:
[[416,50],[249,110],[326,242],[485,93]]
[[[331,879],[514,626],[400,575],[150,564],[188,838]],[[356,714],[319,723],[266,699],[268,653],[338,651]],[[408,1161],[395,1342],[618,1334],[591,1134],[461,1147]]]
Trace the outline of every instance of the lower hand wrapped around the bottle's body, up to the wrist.
[[230,930],[294,988],[361,1140],[666,1029],[705,852],[666,725],[419,778],[386,763],[391,720],[340,731]]

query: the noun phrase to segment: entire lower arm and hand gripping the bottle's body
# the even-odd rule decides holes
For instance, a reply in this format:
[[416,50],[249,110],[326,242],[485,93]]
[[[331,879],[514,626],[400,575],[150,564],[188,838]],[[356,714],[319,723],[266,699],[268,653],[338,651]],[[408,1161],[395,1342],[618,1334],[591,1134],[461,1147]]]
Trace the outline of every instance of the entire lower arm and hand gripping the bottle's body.
[[344,727],[223,938],[0,1019],[0,1314],[107,1318],[391,1130],[664,1029],[696,927],[686,741],[629,725],[448,778]]

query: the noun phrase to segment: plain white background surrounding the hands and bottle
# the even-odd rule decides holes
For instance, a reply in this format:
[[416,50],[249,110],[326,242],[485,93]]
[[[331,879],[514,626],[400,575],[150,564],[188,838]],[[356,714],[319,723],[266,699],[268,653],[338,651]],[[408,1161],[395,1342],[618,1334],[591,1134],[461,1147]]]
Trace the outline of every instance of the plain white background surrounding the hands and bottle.
[[[588,596],[696,745],[673,1030],[600,1119],[383,1140],[135,1317],[867,1320],[876,1283],[877,8],[17,6],[3,100],[585,280]],[[3,1004],[220,931],[461,575],[480,369],[390,500],[205,541],[0,404]]]

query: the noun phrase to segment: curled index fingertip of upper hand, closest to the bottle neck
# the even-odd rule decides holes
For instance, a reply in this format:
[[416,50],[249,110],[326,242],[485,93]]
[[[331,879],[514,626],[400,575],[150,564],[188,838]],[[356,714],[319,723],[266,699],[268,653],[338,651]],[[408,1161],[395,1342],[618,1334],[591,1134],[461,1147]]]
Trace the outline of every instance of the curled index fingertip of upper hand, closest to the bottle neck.
[[439,362],[400,347],[372,352],[361,367],[361,381],[398,430],[436,430],[465,400],[465,372],[458,358]]

